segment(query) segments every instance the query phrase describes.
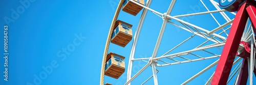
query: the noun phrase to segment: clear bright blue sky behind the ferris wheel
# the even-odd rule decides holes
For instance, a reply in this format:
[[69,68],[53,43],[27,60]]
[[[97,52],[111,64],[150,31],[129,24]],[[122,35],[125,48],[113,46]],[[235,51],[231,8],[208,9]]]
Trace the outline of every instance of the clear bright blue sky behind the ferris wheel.
[[[29,2],[29,4],[20,2]],[[187,2],[177,1],[172,15],[206,11],[205,8],[200,7],[202,6],[200,1]],[[8,81],[4,81],[4,73],[2,73],[0,83],[6,85],[28,85],[29,83],[99,84],[105,41],[118,3],[118,0],[2,0],[0,3],[0,27],[4,28],[4,25],[8,25],[10,54],[8,58]],[[151,8],[164,13],[167,11],[169,4],[169,0],[153,1]],[[210,6],[210,10],[214,10],[209,1],[206,1],[206,5]],[[195,6],[200,8],[194,9]],[[133,16],[121,11],[118,19],[132,24],[134,35],[140,15],[141,13]],[[8,21],[6,21],[7,18]],[[207,20],[202,20],[205,18]],[[209,30],[218,26],[210,18],[210,15],[190,17],[188,20],[194,24],[207,21],[209,24],[201,24],[200,26],[211,26]],[[222,24],[225,22],[223,18],[219,20]],[[135,58],[150,57],[152,55],[162,21],[152,12],[148,12]],[[4,29],[0,31],[2,32]],[[188,32],[168,24],[157,55],[160,56],[189,36],[191,34]],[[3,37],[4,35],[0,36],[0,38]],[[203,42],[205,39],[197,37],[195,41]],[[191,41],[190,44],[182,49],[188,49],[191,45],[195,47],[195,44],[198,44],[195,41]],[[0,44],[1,47],[4,46],[4,42],[1,41]],[[109,52],[112,51],[125,56],[126,59],[124,61],[127,68],[131,46],[132,42],[124,48],[110,44]],[[182,49],[178,49],[177,52]],[[1,50],[1,56],[3,56],[4,51],[3,49]],[[216,60],[157,67],[160,70],[158,73],[159,84],[180,84]],[[145,64],[143,62],[135,62],[133,75]],[[205,83],[214,70],[211,69],[190,84]],[[2,57],[0,58],[0,71],[4,71],[4,58]],[[119,79],[105,76],[104,82],[124,84],[126,72],[127,69]],[[133,81],[133,84],[140,84],[151,75],[152,69],[149,67]],[[38,83],[34,83],[34,79],[37,79],[37,77],[44,79],[40,78],[37,81]],[[153,84],[153,79],[146,84]]]

